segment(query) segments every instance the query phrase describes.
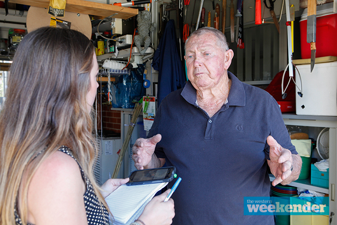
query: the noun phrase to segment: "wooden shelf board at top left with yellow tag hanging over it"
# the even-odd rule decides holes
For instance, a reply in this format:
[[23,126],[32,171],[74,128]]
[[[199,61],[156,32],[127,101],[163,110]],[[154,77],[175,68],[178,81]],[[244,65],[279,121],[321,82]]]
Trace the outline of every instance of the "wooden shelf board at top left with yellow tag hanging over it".
[[[4,0],[1,0],[4,1]],[[49,0],[9,0],[10,3],[18,3],[36,7],[49,7]],[[138,14],[138,9],[109,5],[86,0],[67,0],[65,11],[84,13],[95,16],[107,17],[116,13],[113,18],[128,19]]]

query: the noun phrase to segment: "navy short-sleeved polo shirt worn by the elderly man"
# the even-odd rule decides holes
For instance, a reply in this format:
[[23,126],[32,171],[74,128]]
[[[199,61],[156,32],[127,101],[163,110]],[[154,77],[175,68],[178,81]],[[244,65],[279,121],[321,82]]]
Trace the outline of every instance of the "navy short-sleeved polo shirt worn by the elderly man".
[[211,118],[188,81],[162,101],[149,131],[148,137],[162,135],[156,156],[182,178],[172,195],[173,225],[274,224],[273,216],[244,216],[243,198],[269,196],[268,135],[297,153],[274,98],[228,76],[228,103]]

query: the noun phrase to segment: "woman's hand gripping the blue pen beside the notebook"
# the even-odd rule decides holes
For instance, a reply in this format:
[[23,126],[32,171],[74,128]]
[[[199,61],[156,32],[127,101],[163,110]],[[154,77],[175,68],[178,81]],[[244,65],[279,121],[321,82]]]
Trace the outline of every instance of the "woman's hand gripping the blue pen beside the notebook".
[[144,208],[142,215],[138,218],[145,225],[170,225],[175,215],[173,199],[164,203],[171,189],[161,195],[154,197]]

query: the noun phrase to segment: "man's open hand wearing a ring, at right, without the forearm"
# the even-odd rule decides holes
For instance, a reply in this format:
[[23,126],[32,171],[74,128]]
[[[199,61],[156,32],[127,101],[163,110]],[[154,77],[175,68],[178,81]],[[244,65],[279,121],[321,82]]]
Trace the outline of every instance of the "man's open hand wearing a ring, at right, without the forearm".
[[287,182],[283,182],[283,180],[286,180],[292,174],[292,153],[288,149],[285,149],[281,145],[279,145],[272,136],[267,137],[267,143],[270,147],[270,160],[267,161],[272,174],[275,176],[275,180],[273,180],[272,184],[274,186],[278,183],[287,184]]

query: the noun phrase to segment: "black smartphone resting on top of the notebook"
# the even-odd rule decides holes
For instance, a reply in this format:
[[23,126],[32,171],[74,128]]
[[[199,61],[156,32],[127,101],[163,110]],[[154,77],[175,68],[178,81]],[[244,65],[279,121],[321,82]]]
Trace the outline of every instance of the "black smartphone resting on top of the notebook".
[[173,170],[174,169],[172,167],[169,167],[134,171],[130,175],[129,182],[169,179]]

